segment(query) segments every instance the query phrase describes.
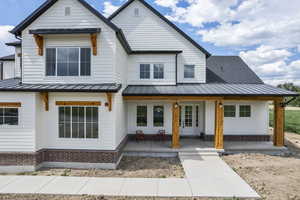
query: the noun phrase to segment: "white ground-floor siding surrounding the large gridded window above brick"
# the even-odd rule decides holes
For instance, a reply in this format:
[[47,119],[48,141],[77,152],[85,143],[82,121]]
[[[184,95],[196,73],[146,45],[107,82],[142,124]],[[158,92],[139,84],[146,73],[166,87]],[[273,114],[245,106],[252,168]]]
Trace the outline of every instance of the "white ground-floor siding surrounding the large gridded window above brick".
[[[99,106],[99,138],[77,139],[59,138],[58,131],[58,106],[56,101],[101,101]],[[105,94],[100,93],[49,93],[49,111],[43,111],[45,125],[43,127],[43,148],[49,149],[93,149],[114,150],[114,112],[109,112],[105,106],[107,102]]]

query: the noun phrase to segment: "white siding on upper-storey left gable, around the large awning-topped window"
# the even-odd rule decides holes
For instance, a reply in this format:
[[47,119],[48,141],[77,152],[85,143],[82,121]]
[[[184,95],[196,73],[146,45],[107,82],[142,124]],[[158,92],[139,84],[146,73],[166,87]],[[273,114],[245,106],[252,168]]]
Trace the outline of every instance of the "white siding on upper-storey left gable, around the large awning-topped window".
[[[65,8],[71,8],[71,15],[65,16]],[[39,56],[31,29],[51,28],[101,28],[98,34],[98,55],[92,55],[91,77],[46,77],[45,51]],[[77,0],[60,0],[37,18],[22,32],[23,82],[24,83],[111,83],[115,78],[116,34],[102,20],[96,17]],[[45,36],[44,46],[88,46],[89,34],[68,36]]]

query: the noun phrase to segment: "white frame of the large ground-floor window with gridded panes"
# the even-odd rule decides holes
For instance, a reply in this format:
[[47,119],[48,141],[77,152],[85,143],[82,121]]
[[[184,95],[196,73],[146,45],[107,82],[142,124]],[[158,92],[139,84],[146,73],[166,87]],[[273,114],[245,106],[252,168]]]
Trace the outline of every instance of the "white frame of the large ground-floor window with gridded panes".
[[[70,107],[71,108],[71,114],[70,114],[70,133],[71,137],[66,138],[66,137],[59,137],[59,108],[61,107]],[[73,138],[72,137],[72,121],[73,121],[73,116],[72,116],[72,107],[84,107],[84,138]],[[86,107],[93,107],[93,108],[98,108],[98,137],[97,138],[87,138],[86,137]],[[57,106],[57,137],[60,140],[99,140],[100,139],[100,107],[99,106]]]

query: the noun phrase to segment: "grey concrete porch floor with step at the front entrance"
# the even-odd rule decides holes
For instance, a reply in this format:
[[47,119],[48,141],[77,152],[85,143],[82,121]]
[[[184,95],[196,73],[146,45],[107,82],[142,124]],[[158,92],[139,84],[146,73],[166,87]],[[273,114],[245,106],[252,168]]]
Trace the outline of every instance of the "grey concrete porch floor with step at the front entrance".
[[199,138],[181,138],[181,148],[171,148],[172,141],[128,141],[124,147],[125,154],[131,155],[177,155],[177,153],[224,153],[224,152],[268,152],[283,153],[286,147],[274,146],[272,141],[227,141],[224,149],[216,149],[214,142],[202,141]]

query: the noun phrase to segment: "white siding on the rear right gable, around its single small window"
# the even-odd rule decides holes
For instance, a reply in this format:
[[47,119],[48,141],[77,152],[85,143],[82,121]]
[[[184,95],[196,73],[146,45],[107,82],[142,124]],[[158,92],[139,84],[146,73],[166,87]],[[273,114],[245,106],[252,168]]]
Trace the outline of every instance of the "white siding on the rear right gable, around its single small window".
[[[205,83],[205,54],[139,1],[131,3],[112,22],[123,30],[133,50],[182,50],[178,55],[178,82]],[[184,79],[185,64],[195,65],[195,79]]]

